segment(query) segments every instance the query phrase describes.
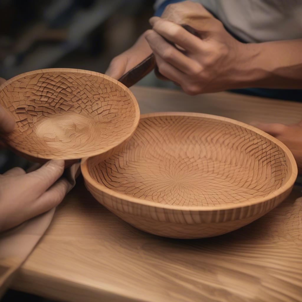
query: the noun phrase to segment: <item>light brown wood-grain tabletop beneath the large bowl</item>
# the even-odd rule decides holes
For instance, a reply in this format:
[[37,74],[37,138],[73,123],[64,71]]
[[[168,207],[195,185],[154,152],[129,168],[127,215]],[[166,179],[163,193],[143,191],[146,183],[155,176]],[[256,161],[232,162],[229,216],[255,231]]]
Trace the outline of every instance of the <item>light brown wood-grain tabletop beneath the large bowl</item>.
[[[302,104],[133,87],[141,112],[195,111],[291,124]],[[232,233],[194,240],[144,233],[78,182],[22,266],[15,289],[62,301],[301,301],[302,193]]]

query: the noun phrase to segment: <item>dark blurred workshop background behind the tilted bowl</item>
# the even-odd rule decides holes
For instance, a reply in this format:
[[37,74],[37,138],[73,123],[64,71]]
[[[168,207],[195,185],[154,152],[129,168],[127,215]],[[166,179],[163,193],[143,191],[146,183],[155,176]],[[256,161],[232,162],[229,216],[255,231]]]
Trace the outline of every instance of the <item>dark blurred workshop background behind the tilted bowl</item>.
[[[0,77],[57,67],[104,73],[112,58],[150,28],[154,2],[1,0]],[[153,72],[137,85],[176,88]],[[0,150],[0,174],[14,166],[27,169],[29,164]]]

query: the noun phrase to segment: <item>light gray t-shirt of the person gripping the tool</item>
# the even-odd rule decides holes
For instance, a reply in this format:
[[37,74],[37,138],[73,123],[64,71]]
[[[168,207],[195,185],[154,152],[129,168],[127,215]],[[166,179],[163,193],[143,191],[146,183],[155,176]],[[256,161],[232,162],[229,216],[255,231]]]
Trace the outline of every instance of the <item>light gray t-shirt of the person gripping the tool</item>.
[[[165,0],[157,0],[155,9]],[[245,42],[302,38],[302,0],[195,0]]]

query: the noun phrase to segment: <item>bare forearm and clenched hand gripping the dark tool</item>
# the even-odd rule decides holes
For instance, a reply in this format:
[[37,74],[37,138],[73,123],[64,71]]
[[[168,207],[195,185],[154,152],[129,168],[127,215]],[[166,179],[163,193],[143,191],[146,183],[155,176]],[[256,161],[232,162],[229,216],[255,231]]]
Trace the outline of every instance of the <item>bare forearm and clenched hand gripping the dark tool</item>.
[[[153,29],[146,32],[146,40],[159,72],[190,95],[250,87],[302,88],[302,39],[241,43],[202,5],[190,1],[168,5],[162,17],[150,23]],[[198,37],[182,24],[194,27]]]

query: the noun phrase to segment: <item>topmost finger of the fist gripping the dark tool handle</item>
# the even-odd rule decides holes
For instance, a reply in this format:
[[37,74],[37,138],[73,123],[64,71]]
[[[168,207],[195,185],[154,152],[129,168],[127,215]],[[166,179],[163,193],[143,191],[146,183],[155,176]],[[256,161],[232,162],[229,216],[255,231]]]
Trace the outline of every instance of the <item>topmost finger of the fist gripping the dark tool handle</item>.
[[151,18],[150,23],[153,26],[153,30],[167,40],[179,45],[188,52],[200,52],[204,42],[200,38],[186,31],[180,25],[162,18]]

